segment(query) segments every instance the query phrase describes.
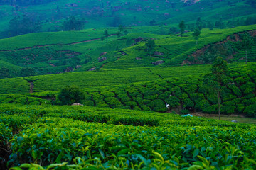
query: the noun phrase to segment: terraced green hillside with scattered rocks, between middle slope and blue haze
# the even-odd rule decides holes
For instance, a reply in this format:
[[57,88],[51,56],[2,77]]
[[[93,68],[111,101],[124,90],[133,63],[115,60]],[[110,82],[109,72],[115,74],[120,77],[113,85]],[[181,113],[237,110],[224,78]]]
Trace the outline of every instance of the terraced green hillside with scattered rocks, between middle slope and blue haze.
[[[155,33],[144,33],[149,28]],[[2,44],[0,60],[7,62],[10,77],[28,76],[29,74],[21,72],[28,67],[33,68],[37,74],[52,74],[95,70],[102,67],[103,69],[156,67],[154,63],[158,62],[163,63],[161,66],[209,64],[216,56],[222,56],[230,62],[238,62],[244,61],[241,60],[243,57],[238,55],[244,51],[237,50],[239,40],[232,40],[230,37],[247,30],[252,36],[255,35],[255,25],[232,29],[203,29],[196,45],[191,33],[186,33],[183,37],[159,35],[158,26],[124,28],[124,32],[125,30],[129,31],[128,34],[118,38],[115,35],[117,28],[109,28],[110,37],[103,41],[100,39],[105,29],[34,33],[7,38],[0,40]],[[153,54],[147,52],[145,45],[145,41],[150,38],[156,42]],[[213,47],[215,48],[213,50],[218,52],[211,52],[210,56],[206,53],[191,57],[209,45],[214,46],[214,43],[220,43],[221,47]],[[253,54],[254,47],[250,52]],[[254,55],[248,55],[248,60],[254,61]]]

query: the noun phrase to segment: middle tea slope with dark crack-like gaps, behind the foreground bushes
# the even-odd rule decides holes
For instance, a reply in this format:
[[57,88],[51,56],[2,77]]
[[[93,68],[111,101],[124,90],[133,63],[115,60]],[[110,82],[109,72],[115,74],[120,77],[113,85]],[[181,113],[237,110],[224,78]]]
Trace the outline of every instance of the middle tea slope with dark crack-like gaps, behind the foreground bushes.
[[[222,114],[255,117],[255,68],[255,62],[230,64],[230,82],[223,87],[221,95]],[[1,79],[0,101],[31,105],[58,104],[58,91],[73,84],[85,91],[85,101],[82,102],[85,106],[215,114],[218,111],[217,97],[203,84],[203,75],[208,72],[210,65],[198,65]],[[20,84],[20,89],[16,84]],[[169,103],[169,109],[166,103]]]

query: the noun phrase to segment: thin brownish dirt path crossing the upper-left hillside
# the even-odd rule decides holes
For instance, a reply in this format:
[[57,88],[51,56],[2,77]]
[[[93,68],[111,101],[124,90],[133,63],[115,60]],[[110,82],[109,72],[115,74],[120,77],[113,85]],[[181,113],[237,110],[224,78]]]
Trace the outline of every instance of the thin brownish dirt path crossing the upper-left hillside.
[[[116,34],[111,34],[109,37],[112,37]],[[81,43],[86,43],[86,42],[92,42],[95,40],[100,40],[101,38],[94,38],[91,40],[85,40],[85,41],[80,41],[80,42],[71,42],[68,44],[51,44],[51,45],[35,45],[33,47],[25,47],[25,48],[19,48],[19,49],[15,49],[15,50],[0,50],[0,52],[16,52],[16,51],[21,51],[21,50],[31,50],[34,48],[41,48],[41,47],[51,47],[51,46],[55,46],[55,45],[65,45],[65,46],[69,46],[69,45],[76,45],[76,44],[81,44]]]

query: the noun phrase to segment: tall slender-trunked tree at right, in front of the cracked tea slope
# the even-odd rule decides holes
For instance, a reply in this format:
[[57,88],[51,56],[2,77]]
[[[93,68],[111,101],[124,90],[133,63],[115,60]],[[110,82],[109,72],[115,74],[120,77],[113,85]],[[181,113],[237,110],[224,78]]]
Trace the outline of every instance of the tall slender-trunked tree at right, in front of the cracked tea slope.
[[218,115],[220,120],[220,97],[221,89],[227,81],[230,81],[227,76],[228,73],[228,63],[223,60],[222,57],[217,57],[213,62],[211,67],[211,73],[206,74],[203,79],[204,84],[208,86],[210,92],[215,92],[218,97]]

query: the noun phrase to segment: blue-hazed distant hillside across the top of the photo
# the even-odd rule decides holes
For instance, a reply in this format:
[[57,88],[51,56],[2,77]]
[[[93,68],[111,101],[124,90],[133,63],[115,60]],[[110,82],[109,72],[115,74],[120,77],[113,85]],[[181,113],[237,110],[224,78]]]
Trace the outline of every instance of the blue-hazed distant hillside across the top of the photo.
[[[120,24],[125,27],[178,27],[178,23],[183,20],[192,24],[190,27],[193,29],[198,17],[203,21],[203,28],[210,28],[211,25],[220,27],[221,24],[231,28],[256,22],[253,19],[255,6],[251,5],[251,1],[1,1],[0,35],[1,38],[18,35],[9,28],[9,21],[14,17],[22,18],[23,15],[31,23],[38,24],[38,28],[31,26],[32,30],[25,33],[63,30],[62,23],[69,16],[82,19],[84,28],[118,27]],[[14,29],[18,29],[18,26]]]

